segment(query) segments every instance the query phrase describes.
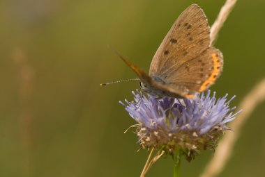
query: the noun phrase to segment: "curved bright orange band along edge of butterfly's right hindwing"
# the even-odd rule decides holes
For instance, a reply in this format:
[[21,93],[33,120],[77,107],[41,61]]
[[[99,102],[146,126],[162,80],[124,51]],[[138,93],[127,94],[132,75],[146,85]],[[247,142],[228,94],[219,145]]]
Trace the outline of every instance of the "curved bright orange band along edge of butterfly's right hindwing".
[[209,85],[215,82],[217,76],[220,74],[220,68],[222,67],[222,65],[220,64],[220,61],[218,61],[218,56],[215,53],[213,53],[211,56],[213,58],[213,72],[211,73],[211,76],[206,81],[204,81],[202,86],[199,88],[199,92],[206,90]]

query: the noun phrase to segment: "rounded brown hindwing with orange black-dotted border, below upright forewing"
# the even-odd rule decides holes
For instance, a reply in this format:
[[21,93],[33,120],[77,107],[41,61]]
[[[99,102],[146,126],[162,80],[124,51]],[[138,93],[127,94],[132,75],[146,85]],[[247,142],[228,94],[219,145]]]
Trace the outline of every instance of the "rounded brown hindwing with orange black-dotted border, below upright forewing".
[[184,62],[168,78],[168,84],[183,85],[189,90],[189,94],[203,92],[208,89],[222,72],[222,53],[213,47],[206,49],[196,58]]

